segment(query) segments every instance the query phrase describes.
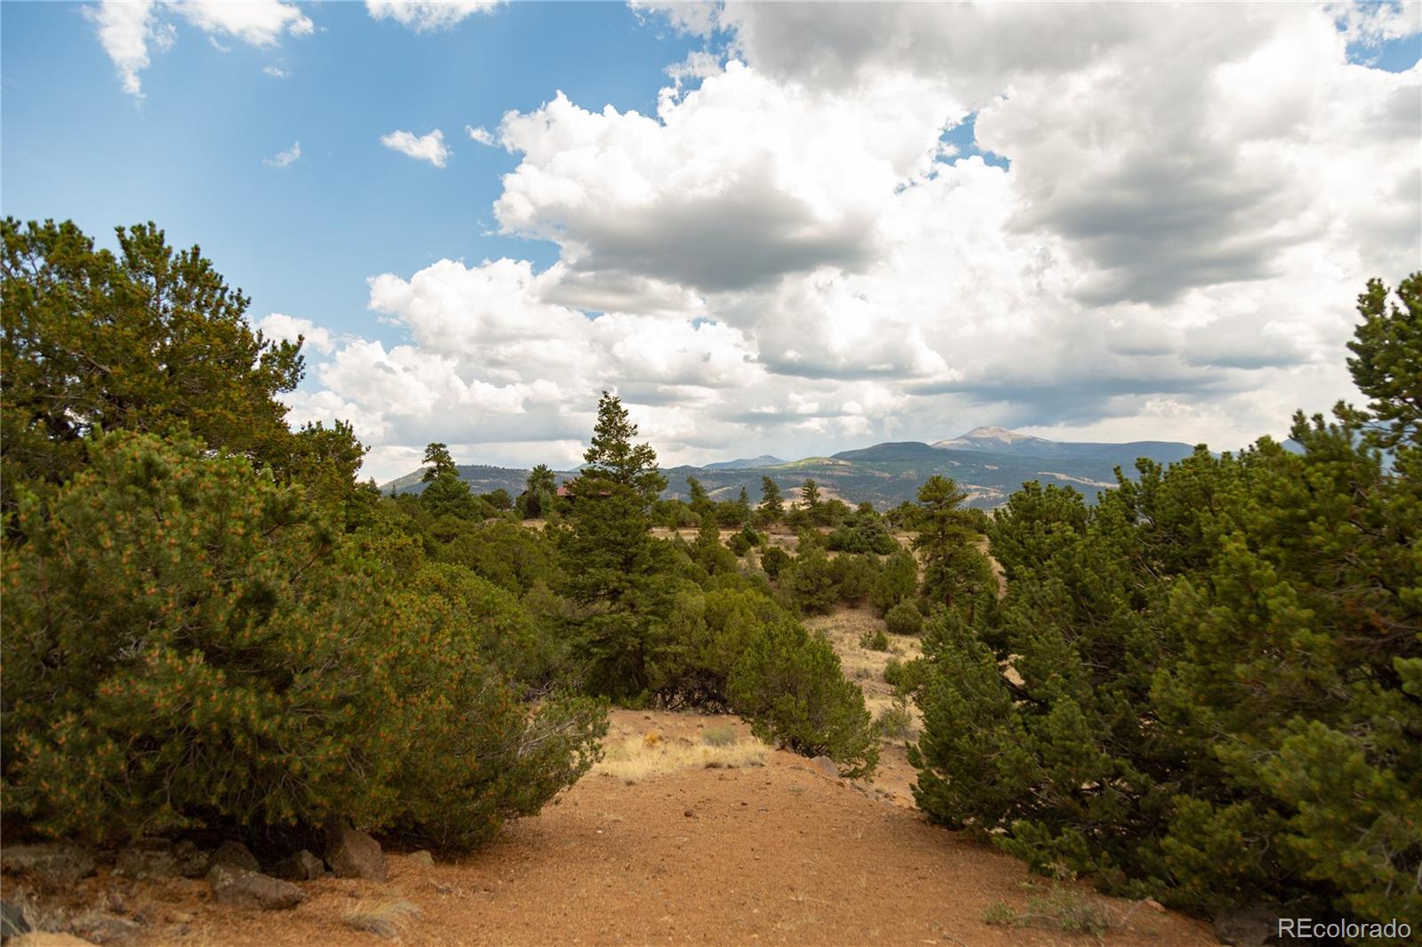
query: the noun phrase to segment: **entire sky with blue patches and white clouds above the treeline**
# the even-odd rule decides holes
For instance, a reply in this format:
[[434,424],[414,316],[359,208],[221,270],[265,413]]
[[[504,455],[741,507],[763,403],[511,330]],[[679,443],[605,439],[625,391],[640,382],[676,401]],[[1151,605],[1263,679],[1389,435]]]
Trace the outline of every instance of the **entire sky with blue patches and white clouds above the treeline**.
[[353,421],[380,479],[435,439],[576,462],[603,388],[668,462],[983,424],[1233,448],[1355,397],[1352,301],[1422,259],[1419,33],[1388,3],[7,1],[0,205],[199,243],[307,337],[292,419]]

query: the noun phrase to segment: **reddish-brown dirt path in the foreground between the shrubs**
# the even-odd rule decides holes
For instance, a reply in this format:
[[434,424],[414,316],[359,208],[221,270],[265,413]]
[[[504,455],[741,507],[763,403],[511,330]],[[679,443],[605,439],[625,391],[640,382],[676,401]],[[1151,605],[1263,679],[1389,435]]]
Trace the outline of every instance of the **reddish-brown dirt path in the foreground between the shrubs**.
[[[650,751],[694,747],[707,728],[727,725],[748,734],[735,718],[616,711],[609,739],[646,747],[654,734]],[[1047,886],[870,788],[792,754],[761,752],[764,765],[651,768],[631,785],[611,771],[589,775],[469,857],[428,867],[391,855],[388,882],[311,882],[293,911],[226,909],[205,897],[202,882],[151,884],[142,893],[151,917],[196,917],[158,923],[139,943],[391,943],[341,919],[357,906],[398,901],[418,909],[398,926],[405,944],[1098,943],[985,924],[995,901],[1025,910]],[[1102,943],[1216,943],[1199,921],[1099,903],[1115,923]]]

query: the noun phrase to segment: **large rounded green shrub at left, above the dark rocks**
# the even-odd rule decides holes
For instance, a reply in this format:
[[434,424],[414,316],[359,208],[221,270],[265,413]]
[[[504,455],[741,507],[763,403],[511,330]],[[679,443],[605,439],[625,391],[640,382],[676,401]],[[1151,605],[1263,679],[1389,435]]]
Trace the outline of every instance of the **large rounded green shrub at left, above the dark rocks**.
[[245,458],[131,434],[47,503],[20,491],[7,818],[115,840],[340,816],[464,846],[592,765],[600,707],[530,717],[478,653],[482,606],[394,589],[385,537],[333,536],[300,499]]

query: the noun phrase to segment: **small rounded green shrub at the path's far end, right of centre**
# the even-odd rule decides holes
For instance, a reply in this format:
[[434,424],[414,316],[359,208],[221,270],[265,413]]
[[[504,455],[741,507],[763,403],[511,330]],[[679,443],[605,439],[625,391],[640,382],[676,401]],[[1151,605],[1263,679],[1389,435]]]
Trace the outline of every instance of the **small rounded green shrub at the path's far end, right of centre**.
[[845,680],[829,643],[795,621],[768,624],[747,646],[729,694],[761,739],[829,756],[848,776],[869,775],[879,762],[863,691]]

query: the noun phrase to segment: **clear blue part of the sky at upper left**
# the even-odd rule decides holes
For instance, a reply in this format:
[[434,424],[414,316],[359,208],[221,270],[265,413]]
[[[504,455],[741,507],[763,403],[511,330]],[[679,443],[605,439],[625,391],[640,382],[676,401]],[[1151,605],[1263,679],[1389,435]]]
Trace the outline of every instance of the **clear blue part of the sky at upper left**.
[[[199,243],[253,313],[392,343],[400,331],[365,310],[367,276],[441,257],[557,257],[550,243],[491,233],[499,178],[518,159],[469,141],[465,125],[496,127],[559,90],[653,112],[667,64],[700,47],[613,3],[509,6],[438,33],[377,21],[358,3],[310,13],[319,31],[276,48],[229,37],[222,53],[179,24],[138,101],[82,4],[4,3],[4,213],[70,218],[107,246],[114,226],[155,220],[172,243]],[[383,148],[397,128],[444,128],[448,166]],[[263,165],[294,142],[300,161]]]

